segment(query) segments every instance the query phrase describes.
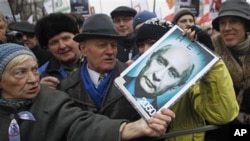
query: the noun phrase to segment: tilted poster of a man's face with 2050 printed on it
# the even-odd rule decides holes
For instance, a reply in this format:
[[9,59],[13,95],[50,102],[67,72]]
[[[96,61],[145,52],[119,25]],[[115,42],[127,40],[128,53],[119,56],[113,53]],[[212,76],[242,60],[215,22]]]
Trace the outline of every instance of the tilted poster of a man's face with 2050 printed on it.
[[115,79],[128,101],[148,119],[171,107],[219,57],[204,45],[171,28],[149,50]]

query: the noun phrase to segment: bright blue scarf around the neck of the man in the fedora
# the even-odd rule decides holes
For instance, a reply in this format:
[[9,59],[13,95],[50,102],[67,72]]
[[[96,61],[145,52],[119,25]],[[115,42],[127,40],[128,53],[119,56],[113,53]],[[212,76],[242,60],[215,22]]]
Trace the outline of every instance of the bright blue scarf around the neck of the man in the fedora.
[[96,88],[92,80],[90,79],[88,69],[87,69],[87,62],[84,62],[84,64],[81,67],[81,76],[83,81],[83,87],[86,89],[92,100],[95,102],[95,104],[98,107],[101,107],[103,97],[105,94],[105,89],[108,85],[108,82],[114,73],[114,69],[108,73],[108,75],[104,78],[104,80],[98,85]]

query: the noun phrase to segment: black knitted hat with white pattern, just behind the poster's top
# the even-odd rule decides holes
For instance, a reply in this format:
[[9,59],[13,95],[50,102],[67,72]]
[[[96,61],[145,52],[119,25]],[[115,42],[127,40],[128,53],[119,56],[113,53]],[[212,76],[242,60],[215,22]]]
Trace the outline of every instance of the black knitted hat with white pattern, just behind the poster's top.
[[138,44],[146,39],[157,41],[173,26],[173,23],[159,18],[147,20],[136,32],[136,43]]

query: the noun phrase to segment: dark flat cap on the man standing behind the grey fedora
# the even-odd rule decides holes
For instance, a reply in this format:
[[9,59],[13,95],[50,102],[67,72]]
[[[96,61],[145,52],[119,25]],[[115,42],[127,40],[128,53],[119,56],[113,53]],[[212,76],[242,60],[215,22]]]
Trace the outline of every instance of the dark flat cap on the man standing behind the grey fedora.
[[115,8],[113,11],[111,11],[110,15],[111,18],[117,17],[117,16],[131,16],[134,17],[136,14],[136,10],[127,6],[119,6]]

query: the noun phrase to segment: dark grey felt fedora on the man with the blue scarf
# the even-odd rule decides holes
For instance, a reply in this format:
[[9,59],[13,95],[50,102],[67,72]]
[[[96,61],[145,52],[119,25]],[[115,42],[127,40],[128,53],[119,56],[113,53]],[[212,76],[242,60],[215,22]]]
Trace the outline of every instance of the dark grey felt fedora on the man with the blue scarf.
[[113,22],[108,15],[94,14],[85,20],[82,33],[76,35],[74,40],[80,42],[90,37],[121,38],[124,36],[120,36],[116,32]]

